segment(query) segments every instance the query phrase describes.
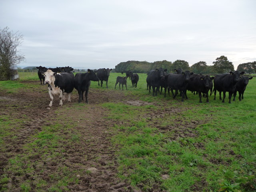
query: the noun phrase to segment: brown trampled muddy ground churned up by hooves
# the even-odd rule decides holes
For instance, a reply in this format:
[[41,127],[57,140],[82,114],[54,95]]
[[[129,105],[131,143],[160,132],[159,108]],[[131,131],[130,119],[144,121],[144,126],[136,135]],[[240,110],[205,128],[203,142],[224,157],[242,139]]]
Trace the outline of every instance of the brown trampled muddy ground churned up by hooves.
[[[30,85],[38,84],[38,82],[23,82],[28,87]],[[104,102],[124,102],[126,104],[141,106],[152,103],[143,102],[134,96],[125,96],[124,92],[119,90],[106,90],[106,89],[90,89],[88,100],[88,109],[81,113],[81,110],[68,110],[68,106],[74,106],[78,101],[78,94],[72,94],[71,103],[64,102],[64,106],[58,106],[58,98],[54,98],[53,106],[48,109],[47,106],[50,102],[47,86],[31,86],[28,89],[22,89],[17,93],[7,93],[0,90],[0,115],[11,115],[14,119],[22,119],[26,116],[28,121],[20,124],[19,132],[16,132],[16,139],[4,138],[5,148],[0,152],[0,175],[4,174],[11,179],[8,181],[7,186],[9,191],[21,191],[20,184],[24,180],[34,180],[31,190],[36,189],[36,181],[43,179],[51,184],[50,175],[57,172],[62,167],[68,167],[70,170],[84,170],[84,174],[77,175],[78,184],[70,183],[68,189],[70,191],[86,191],[86,192],[128,192],[128,191],[141,191],[140,188],[130,186],[126,181],[121,181],[117,177],[118,163],[116,161],[116,151],[119,146],[113,146],[110,141],[109,130],[114,124],[122,124],[125,122],[118,122],[118,120],[106,120],[108,110],[98,104]],[[34,174],[15,175],[8,171],[8,160],[24,153],[24,146],[31,142],[30,136],[42,130],[44,126],[51,126],[56,123],[58,119],[59,124],[63,123],[59,118],[59,113],[56,110],[63,108],[63,118],[70,118],[70,121],[76,122],[76,131],[82,135],[83,141],[80,144],[73,146],[62,143],[66,149],[64,154],[65,158],[61,160],[53,160],[43,156],[34,156],[30,161],[35,162]],[[146,115],[156,126],[154,118],[164,116],[166,112],[179,113],[179,109],[169,108],[163,110],[149,110]],[[170,140],[175,140],[177,137],[184,137],[185,132],[190,136],[196,136],[196,133],[191,131],[191,128],[196,127],[198,122],[189,123],[188,128],[183,126],[182,130],[174,134]],[[165,132],[174,127],[158,127],[159,130]],[[63,131],[62,134],[66,134]],[[56,149],[58,150],[58,149]],[[85,158],[86,157],[86,158]],[[57,162],[57,163],[56,163]],[[80,164],[80,166],[77,165]],[[38,166],[38,164],[40,166]],[[24,166],[26,168],[26,165]],[[43,170],[43,171],[42,171]],[[89,171],[90,174],[87,174]],[[0,187],[1,188],[1,187]],[[45,186],[47,188],[47,186]],[[42,189],[44,191],[44,189]],[[154,191],[161,191],[160,188],[155,188]]]

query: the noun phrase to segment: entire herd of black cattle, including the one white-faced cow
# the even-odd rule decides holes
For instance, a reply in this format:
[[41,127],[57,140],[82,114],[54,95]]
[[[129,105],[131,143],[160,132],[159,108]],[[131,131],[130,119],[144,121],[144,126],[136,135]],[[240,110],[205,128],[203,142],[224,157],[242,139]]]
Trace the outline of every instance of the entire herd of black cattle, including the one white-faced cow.
[[[75,88],[78,91],[80,103],[84,100],[85,92],[85,102],[88,103],[88,90],[90,87],[90,81],[98,81],[98,85],[101,86],[103,81],[106,81],[106,88],[108,88],[108,77],[112,69],[100,68],[96,71],[88,69],[86,73],[77,73],[75,76],[73,74],[72,67],[57,67],[57,68],[46,68],[46,67],[36,67],[38,68],[38,77],[40,79],[41,85],[48,84],[48,90],[50,95],[50,104],[52,106],[53,96],[59,96],[60,105],[62,106],[62,101],[65,100],[65,95],[68,95],[68,102],[70,102],[71,92]],[[122,72],[123,74],[123,72]],[[182,69],[178,68],[174,70],[174,73],[167,73],[167,69],[159,68],[152,70],[148,73],[146,78],[147,90],[153,90],[153,96],[157,95],[158,92],[162,93],[164,89],[164,96],[166,96],[166,91],[170,95],[172,92],[172,97],[176,98],[178,92],[180,92],[181,100],[187,97],[187,90],[195,92],[199,95],[199,102],[202,103],[202,95],[206,97],[206,102],[209,102],[208,92],[210,90],[210,95],[214,92],[214,100],[216,99],[216,91],[220,94],[223,92],[222,102],[225,101],[226,92],[228,92],[229,103],[231,103],[231,97],[234,95],[233,101],[235,101],[236,93],[239,93],[239,100],[244,98],[244,90],[252,77],[240,76],[244,72],[230,72],[229,74],[218,74],[216,76],[208,76],[201,74],[194,74],[190,71],[183,72]],[[116,85],[119,83],[122,85],[122,90],[126,86],[127,90],[127,78],[132,82],[132,87],[137,87],[139,76],[132,71],[126,71],[126,76],[118,76],[116,78]],[[214,86],[213,86],[214,85]],[[174,91],[175,90],[175,94]]]

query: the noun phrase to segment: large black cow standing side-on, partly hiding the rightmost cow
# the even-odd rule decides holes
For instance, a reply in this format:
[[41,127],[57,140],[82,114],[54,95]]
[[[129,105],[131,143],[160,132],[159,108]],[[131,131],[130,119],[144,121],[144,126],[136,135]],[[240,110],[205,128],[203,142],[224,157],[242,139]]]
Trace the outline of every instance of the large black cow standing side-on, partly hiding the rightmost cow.
[[223,100],[222,103],[225,102],[226,92],[228,92],[228,103],[231,103],[231,97],[236,89],[236,84],[240,79],[240,75],[244,74],[244,72],[230,71],[229,74],[218,74],[214,79],[214,100],[216,100],[216,91],[220,93],[221,100],[221,92],[223,92]]

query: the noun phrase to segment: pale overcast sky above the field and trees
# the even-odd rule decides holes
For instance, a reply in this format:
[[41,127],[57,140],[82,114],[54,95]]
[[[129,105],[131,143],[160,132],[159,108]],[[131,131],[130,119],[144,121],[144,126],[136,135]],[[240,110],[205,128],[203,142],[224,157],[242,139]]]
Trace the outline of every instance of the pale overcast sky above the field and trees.
[[114,68],[128,60],[256,61],[256,0],[0,0],[24,35],[20,66]]

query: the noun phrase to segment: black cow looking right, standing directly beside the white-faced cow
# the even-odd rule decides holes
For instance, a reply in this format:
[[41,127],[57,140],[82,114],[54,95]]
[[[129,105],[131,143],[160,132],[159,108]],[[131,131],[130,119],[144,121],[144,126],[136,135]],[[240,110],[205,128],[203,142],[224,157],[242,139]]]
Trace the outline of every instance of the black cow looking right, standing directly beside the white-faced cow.
[[91,81],[98,81],[96,73],[93,70],[88,69],[87,73],[77,73],[74,78],[74,87],[78,91],[78,103],[84,100],[85,92],[85,102],[88,104],[88,91]]

